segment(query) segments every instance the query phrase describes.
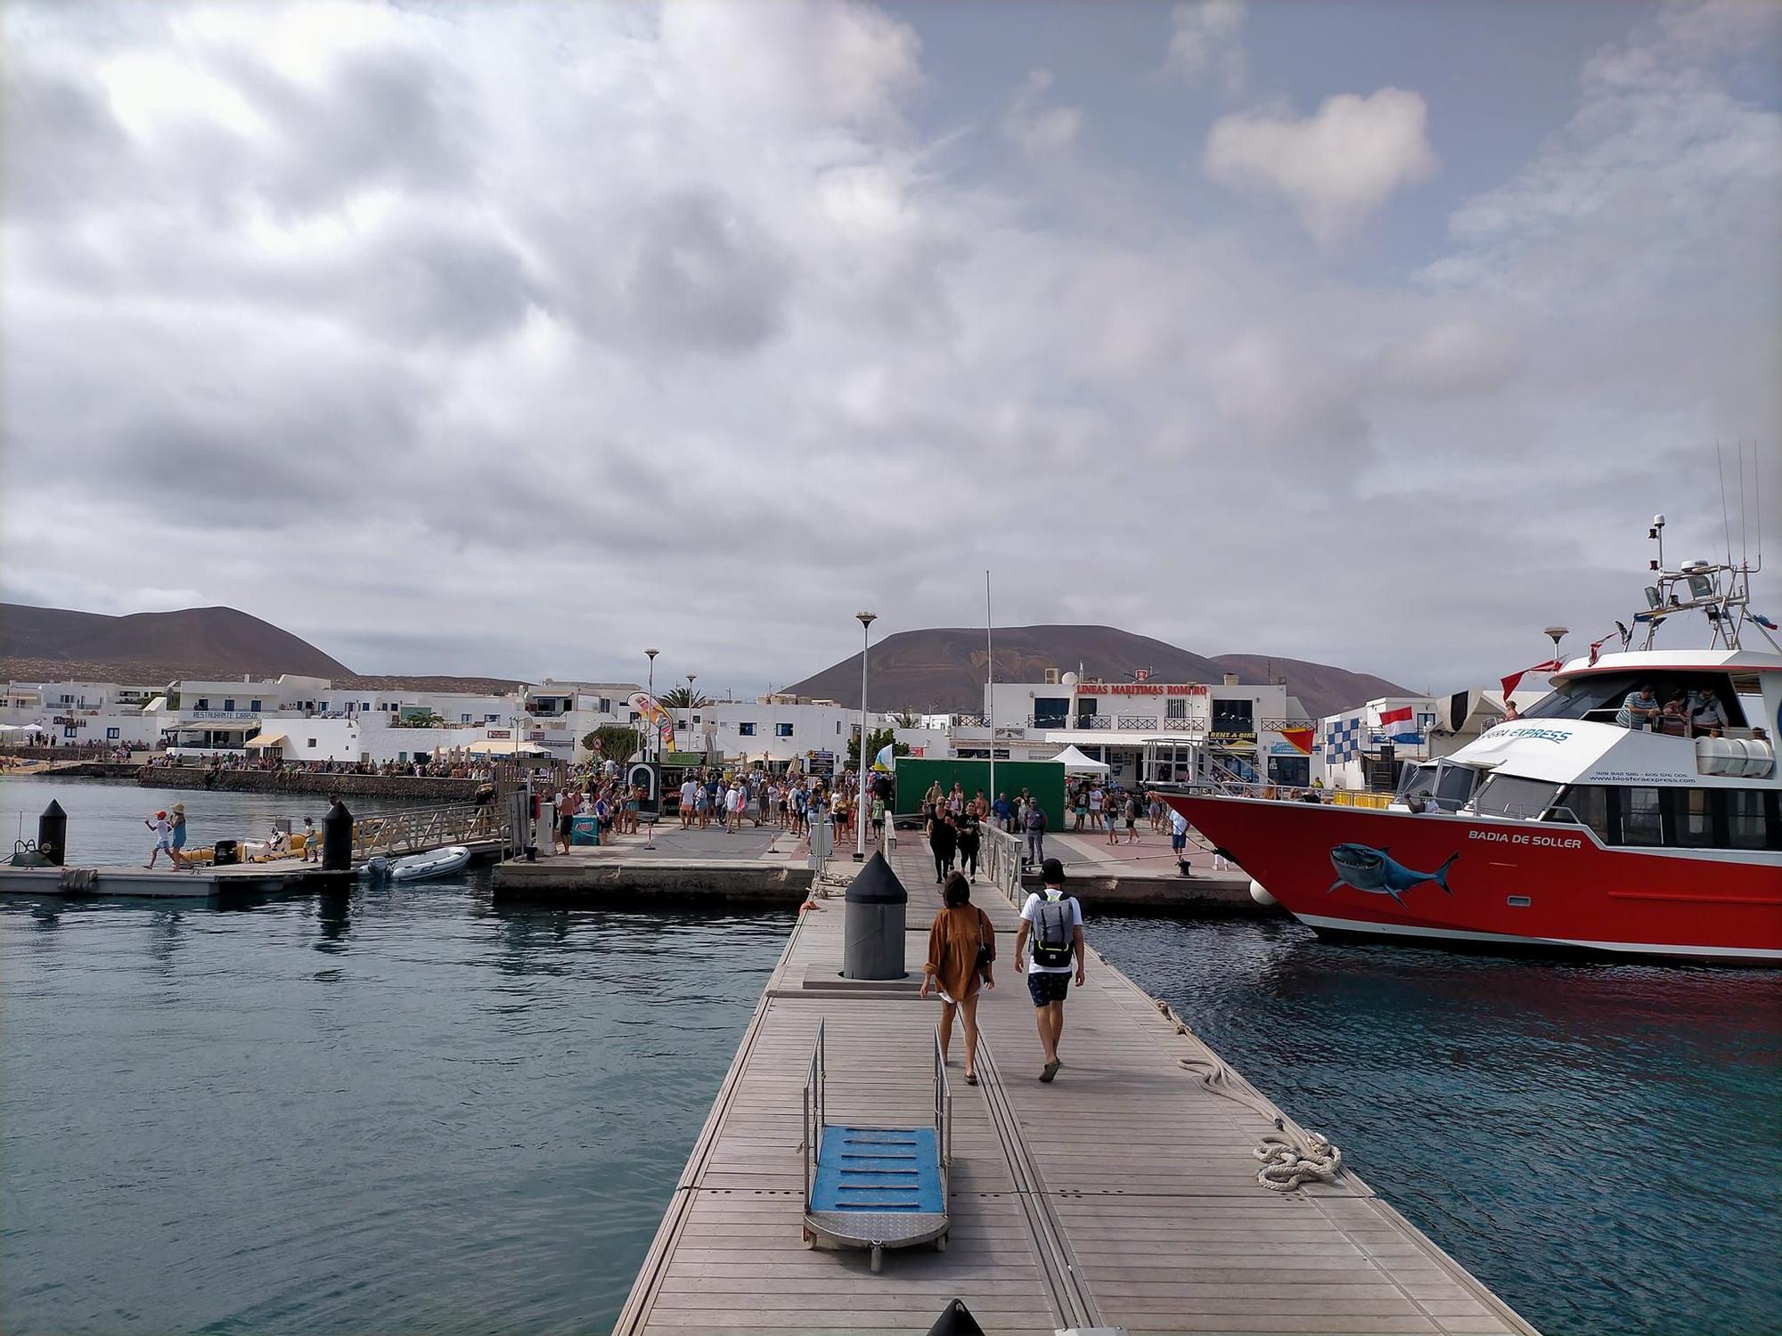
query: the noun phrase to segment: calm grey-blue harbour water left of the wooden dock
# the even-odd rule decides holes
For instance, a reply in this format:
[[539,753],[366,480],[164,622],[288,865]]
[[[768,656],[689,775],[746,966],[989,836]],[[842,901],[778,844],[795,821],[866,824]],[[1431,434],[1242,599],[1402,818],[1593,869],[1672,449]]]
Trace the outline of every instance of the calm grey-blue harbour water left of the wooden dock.
[[0,1331],[608,1331],[791,917],[0,898]]

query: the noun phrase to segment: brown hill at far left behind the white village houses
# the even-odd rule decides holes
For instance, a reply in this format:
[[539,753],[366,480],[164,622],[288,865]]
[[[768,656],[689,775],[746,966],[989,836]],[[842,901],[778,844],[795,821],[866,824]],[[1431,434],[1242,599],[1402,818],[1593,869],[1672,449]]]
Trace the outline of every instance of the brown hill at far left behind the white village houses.
[[[346,664],[233,607],[105,616],[0,604],[0,663],[12,677],[168,682],[237,673],[344,679]],[[34,672],[23,672],[30,664]]]

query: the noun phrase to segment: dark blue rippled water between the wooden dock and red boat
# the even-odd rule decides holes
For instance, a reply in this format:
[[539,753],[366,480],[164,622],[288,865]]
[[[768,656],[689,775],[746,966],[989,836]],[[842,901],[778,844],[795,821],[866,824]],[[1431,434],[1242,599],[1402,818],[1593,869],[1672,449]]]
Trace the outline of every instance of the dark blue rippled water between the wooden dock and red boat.
[[1541,1331],[1782,1331],[1782,974],[1089,939]]

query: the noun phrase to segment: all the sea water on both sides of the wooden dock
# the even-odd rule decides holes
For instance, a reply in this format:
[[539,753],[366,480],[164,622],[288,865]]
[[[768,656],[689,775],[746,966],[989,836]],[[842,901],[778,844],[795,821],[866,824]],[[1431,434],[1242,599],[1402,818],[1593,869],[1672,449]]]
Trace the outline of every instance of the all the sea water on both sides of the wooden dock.
[[[53,794],[93,860],[173,800]],[[789,925],[0,898],[0,1331],[606,1331]],[[1547,1332],[1782,1329],[1782,976],[1089,932]]]

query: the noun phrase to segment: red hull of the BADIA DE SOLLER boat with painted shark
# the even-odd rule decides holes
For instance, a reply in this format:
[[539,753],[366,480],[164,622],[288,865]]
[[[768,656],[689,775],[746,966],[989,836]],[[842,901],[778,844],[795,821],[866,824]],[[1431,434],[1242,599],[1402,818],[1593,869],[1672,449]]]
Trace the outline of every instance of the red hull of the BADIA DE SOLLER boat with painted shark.
[[1588,827],[1169,794],[1320,933],[1782,965],[1782,855],[1604,846]]

